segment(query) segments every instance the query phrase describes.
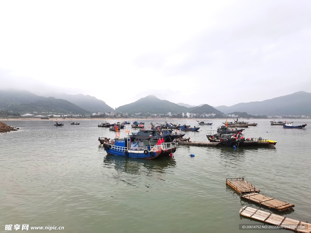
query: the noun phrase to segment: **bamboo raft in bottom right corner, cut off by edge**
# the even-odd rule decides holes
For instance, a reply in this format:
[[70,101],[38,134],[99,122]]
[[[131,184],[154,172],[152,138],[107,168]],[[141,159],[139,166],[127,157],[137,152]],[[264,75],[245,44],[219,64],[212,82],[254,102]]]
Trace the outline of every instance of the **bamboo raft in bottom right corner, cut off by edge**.
[[295,219],[287,218],[274,213],[266,212],[257,208],[244,206],[240,209],[240,214],[245,217],[257,219],[262,222],[267,222],[272,225],[282,226],[292,231],[301,233],[311,233],[311,224],[307,222],[301,222]]

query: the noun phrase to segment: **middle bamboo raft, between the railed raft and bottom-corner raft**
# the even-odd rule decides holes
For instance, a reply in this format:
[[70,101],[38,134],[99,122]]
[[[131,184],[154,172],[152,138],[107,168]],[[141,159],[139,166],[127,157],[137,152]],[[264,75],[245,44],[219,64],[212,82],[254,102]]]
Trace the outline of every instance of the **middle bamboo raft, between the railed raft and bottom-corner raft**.
[[288,202],[279,201],[279,200],[276,200],[276,199],[274,199],[272,197],[267,197],[267,196],[264,196],[262,194],[255,193],[255,192],[247,193],[247,194],[242,194],[240,196],[241,196],[241,198],[245,198],[247,200],[256,202],[256,203],[258,203],[260,205],[264,205],[264,206],[266,206],[268,208],[275,209],[277,211],[284,211],[284,210],[287,210],[287,209],[295,207],[294,204],[290,204]]

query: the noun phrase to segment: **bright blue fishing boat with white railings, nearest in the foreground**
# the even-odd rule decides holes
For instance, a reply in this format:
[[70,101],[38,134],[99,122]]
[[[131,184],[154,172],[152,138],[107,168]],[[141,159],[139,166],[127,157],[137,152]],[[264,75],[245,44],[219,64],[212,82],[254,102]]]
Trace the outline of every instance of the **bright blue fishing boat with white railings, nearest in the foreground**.
[[[144,137],[143,140],[141,137]],[[100,138],[99,138],[100,139]],[[107,154],[116,156],[126,156],[131,158],[155,159],[161,157],[160,154],[172,149],[173,143],[161,143],[158,145],[144,145],[144,141],[149,137],[124,137],[124,139],[114,139],[110,143],[104,142],[100,146],[104,147]],[[176,144],[175,144],[176,150]]]

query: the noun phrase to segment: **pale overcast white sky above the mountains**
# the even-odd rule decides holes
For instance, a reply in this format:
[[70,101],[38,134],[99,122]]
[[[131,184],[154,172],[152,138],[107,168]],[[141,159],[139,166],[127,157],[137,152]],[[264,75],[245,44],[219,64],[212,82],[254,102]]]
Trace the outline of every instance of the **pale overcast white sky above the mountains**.
[[310,1],[0,1],[0,89],[231,106],[311,92]]

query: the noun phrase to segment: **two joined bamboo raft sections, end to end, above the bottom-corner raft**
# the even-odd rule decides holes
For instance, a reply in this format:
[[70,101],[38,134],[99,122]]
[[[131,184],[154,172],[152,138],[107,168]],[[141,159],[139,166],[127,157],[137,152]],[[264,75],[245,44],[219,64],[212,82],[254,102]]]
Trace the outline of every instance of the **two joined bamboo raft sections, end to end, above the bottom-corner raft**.
[[248,183],[244,178],[229,178],[226,179],[226,184],[237,191],[240,194],[240,198],[253,201],[268,208],[284,211],[295,207],[294,204],[259,194],[260,190],[256,189],[251,183]]

